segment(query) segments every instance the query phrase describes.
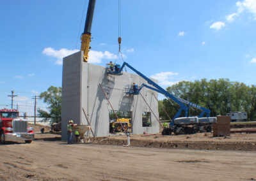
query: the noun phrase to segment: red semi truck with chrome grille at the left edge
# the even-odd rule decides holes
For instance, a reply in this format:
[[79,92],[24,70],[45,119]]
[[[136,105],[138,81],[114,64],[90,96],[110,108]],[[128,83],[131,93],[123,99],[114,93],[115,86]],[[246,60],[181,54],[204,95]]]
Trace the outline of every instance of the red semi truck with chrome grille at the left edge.
[[20,119],[17,110],[0,110],[0,142],[25,141],[31,143],[34,140],[33,127],[28,127],[28,120]]

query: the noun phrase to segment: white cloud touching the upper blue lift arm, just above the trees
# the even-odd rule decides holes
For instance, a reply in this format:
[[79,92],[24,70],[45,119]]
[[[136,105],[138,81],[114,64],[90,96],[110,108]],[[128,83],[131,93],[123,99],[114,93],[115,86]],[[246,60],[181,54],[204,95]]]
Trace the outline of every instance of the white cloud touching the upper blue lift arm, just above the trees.
[[150,76],[150,78],[155,78],[156,80],[159,81],[158,83],[161,85],[170,86],[170,85],[177,83],[177,82],[170,81],[170,78],[172,78],[171,77],[172,75],[179,75],[179,73],[175,73],[172,71],[166,71],[166,72],[156,73],[156,74]]

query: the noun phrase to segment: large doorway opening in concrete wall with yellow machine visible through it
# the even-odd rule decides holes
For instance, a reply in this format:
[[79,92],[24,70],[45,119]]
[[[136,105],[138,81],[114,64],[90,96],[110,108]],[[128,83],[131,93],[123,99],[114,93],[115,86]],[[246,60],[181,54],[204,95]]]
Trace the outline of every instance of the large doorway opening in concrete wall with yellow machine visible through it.
[[117,120],[113,110],[109,110],[109,133],[132,132],[132,112],[131,111],[115,111],[120,122]]

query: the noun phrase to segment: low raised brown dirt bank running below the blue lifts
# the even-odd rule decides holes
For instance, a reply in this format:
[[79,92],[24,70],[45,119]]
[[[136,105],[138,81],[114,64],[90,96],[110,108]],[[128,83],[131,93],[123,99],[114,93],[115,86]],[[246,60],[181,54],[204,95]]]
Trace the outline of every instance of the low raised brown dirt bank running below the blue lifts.
[[[212,133],[197,133],[189,135],[131,135],[132,147],[176,148],[194,150],[256,150],[256,134],[231,134],[227,137],[213,137]],[[93,144],[127,145],[126,136],[109,136],[94,138]]]

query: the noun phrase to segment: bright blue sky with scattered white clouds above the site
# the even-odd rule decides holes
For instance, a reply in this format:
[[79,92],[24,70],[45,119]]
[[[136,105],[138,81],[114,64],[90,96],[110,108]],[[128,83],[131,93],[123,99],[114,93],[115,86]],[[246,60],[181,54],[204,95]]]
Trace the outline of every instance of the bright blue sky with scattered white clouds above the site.
[[[87,5],[0,1],[0,108],[10,108],[13,90],[15,106],[33,115],[32,97],[61,86],[62,57],[81,46]],[[201,78],[256,84],[256,0],[121,0],[121,21],[125,61],[164,88]],[[97,0],[92,36],[90,62],[115,60],[118,0]]]

